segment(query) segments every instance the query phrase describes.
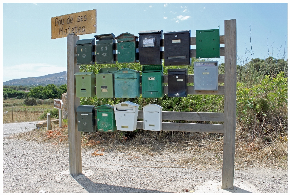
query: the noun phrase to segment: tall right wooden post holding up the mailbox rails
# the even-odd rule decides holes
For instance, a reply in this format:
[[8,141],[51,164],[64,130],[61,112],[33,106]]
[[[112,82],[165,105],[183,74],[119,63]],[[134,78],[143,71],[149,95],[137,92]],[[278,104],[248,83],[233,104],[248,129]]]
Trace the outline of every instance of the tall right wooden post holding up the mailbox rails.
[[224,21],[224,150],[222,189],[234,189],[237,107],[237,20]]

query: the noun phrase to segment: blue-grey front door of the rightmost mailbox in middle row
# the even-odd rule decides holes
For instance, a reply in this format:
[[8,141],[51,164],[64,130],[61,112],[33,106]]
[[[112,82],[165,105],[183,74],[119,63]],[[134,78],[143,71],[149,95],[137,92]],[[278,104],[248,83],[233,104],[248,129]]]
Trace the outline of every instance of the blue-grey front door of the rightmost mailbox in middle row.
[[218,90],[217,67],[195,67],[195,89]]

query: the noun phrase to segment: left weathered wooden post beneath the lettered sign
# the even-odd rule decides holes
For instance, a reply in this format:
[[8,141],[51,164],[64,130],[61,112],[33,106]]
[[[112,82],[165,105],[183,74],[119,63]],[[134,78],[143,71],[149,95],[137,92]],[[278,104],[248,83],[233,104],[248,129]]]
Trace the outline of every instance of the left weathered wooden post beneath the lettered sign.
[[76,109],[79,98],[76,97],[76,76],[79,66],[76,64],[76,41],[79,36],[69,34],[67,43],[67,126],[69,135],[69,173],[78,175],[82,173],[81,132],[78,132]]

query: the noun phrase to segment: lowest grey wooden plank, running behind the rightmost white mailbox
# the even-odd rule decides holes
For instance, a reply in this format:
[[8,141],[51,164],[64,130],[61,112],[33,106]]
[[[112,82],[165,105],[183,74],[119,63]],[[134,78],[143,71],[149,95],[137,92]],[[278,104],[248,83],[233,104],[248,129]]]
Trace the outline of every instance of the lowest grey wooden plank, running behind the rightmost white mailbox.
[[[137,121],[137,129],[143,129],[143,121]],[[223,133],[224,125],[162,122],[163,131]]]

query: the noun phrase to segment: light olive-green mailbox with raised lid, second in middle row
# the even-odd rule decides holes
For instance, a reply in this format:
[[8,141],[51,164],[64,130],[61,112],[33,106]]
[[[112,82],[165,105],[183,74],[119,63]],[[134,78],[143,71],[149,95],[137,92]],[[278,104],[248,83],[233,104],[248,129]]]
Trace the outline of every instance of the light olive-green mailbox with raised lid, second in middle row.
[[116,70],[118,67],[100,68],[99,73],[96,74],[96,96],[98,98],[114,97],[114,72]]

